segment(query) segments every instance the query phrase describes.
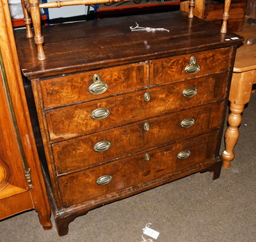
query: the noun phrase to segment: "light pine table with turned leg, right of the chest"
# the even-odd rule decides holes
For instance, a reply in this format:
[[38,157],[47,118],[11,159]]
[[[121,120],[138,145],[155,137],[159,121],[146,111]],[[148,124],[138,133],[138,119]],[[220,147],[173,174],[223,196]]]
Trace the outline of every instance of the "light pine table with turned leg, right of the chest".
[[237,49],[234,73],[230,87],[230,114],[228,128],[225,133],[225,151],[222,153],[223,168],[228,169],[234,160],[234,147],[239,137],[239,125],[244,105],[250,101],[252,86],[256,83],[256,44],[246,45],[246,40],[255,37],[256,26],[244,22],[243,30],[238,32],[244,36],[244,45]]

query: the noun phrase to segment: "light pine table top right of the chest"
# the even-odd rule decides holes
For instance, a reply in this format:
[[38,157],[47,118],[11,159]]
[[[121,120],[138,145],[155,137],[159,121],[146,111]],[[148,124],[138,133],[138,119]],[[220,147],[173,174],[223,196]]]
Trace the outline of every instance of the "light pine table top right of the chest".
[[246,45],[246,40],[249,37],[256,36],[256,26],[250,26],[245,20],[243,30],[236,33],[244,37],[244,42],[243,45],[237,49],[234,72],[247,72],[255,70],[256,44]]

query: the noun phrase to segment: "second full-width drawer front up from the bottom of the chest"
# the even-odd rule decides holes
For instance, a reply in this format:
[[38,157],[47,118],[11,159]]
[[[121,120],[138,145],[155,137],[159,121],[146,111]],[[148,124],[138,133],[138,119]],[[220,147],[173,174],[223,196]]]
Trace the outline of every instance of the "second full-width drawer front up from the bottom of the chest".
[[209,132],[221,125],[224,103],[148,119],[52,145],[58,174],[88,168]]

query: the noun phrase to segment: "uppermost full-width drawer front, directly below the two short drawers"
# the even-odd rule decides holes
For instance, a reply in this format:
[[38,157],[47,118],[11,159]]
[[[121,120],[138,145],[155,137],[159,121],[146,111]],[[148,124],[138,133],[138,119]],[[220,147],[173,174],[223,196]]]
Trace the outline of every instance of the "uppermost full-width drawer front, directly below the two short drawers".
[[[155,87],[147,91],[137,91],[51,110],[46,112],[51,141],[55,142],[88,135],[100,130],[107,130],[188,109],[189,107],[204,105],[213,100],[220,100],[225,95],[226,79],[226,74],[221,73],[163,87]],[[184,91],[190,88],[196,89],[196,94],[194,93],[195,95],[191,98],[185,97]],[[147,100],[148,93],[150,100]],[[97,117],[100,116],[99,120],[92,118],[91,115],[95,113]]]

